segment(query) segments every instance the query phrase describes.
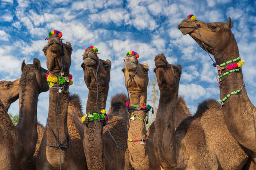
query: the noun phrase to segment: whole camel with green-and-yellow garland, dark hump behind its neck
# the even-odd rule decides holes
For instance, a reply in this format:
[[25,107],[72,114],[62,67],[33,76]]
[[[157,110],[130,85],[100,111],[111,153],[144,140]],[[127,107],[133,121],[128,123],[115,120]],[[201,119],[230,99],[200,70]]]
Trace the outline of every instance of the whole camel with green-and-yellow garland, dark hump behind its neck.
[[[84,63],[81,65],[84,70],[84,82],[89,89],[86,114],[82,117],[84,153],[89,170],[122,170],[129,166],[124,160],[127,149],[127,113],[123,101],[126,98],[124,95],[113,97],[109,114],[106,115],[111,62],[99,59],[97,52],[96,47],[86,48]],[[108,132],[107,123],[114,139]]]

